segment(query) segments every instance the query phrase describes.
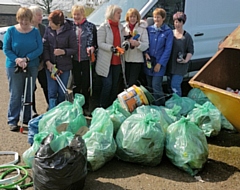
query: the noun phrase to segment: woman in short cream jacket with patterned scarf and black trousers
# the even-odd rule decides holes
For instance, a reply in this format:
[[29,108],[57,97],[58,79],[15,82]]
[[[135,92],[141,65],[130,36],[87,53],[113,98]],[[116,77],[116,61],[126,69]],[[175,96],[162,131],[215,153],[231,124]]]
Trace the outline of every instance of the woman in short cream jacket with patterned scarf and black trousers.
[[[125,36],[129,36],[130,47],[125,52],[126,79],[129,86],[137,83],[138,76],[144,63],[143,51],[148,49],[147,23],[140,20],[141,16],[137,9],[128,10],[125,20]],[[137,35],[139,37],[137,37]],[[136,39],[134,39],[134,37]]]

